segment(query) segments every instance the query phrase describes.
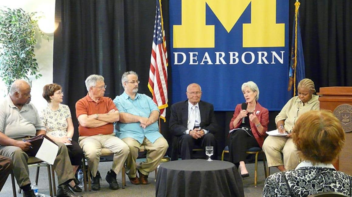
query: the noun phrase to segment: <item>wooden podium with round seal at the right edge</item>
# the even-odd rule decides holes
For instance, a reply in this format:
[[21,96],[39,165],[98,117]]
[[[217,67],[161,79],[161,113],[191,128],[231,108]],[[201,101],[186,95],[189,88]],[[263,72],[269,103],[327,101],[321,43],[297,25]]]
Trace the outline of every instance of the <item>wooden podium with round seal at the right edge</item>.
[[352,175],[352,87],[324,87],[319,91],[320,109],[331,110],[345,130],[345,145],[334,166]]

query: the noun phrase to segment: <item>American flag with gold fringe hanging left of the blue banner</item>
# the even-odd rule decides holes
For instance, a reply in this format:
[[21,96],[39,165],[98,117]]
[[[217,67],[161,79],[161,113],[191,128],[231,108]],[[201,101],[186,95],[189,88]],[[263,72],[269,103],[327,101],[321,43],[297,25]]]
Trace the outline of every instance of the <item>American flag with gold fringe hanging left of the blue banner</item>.
[[153,95],[153,101],[160,110],[160,117],[165,122],[165,108],[168,107],[168,53],[166,50],[161,0],[157,0],[156,4],[148,88]]

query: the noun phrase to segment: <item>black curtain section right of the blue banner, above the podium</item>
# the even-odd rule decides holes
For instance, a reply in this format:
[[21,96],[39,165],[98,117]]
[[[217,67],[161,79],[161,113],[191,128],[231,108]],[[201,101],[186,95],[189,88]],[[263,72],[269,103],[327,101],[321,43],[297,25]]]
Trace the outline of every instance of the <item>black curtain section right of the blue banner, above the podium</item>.
[[[291,49],[295,0],[290,0]],[[315,89],[352,86],[352,1],[300,0],[299,9],[306,77]]]

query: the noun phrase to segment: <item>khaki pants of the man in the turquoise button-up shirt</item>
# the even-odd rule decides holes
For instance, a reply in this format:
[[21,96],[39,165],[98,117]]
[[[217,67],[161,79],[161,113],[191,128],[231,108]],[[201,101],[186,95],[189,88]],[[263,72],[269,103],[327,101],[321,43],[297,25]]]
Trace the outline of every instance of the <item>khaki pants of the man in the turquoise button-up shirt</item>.
[[147,157],[145,162],[142,162],[138,166],[138,170],[144,175],[149,175],[149,172],[154,171],[158,167],[169,147],[168,142],[164,137],[158,138],[154,143],[150,142],[147,138],[144,138],[142,144],[139,144],[139,142],[133,138],[124,138],[122,140],[128,145],[128,147],[130,147],[130,154],[128,154],[126,160],[126,173],[131,178],[137,176],[136,159],[142,145],[145,146]]

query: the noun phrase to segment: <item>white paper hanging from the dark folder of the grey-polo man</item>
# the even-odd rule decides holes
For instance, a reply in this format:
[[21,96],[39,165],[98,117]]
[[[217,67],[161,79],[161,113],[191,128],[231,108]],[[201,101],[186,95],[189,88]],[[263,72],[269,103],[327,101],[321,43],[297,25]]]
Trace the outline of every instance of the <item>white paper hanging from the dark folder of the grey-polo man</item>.
[[50,165],[53,165],[58,150],[59,147],[56,144],[44,138],[43,143],[36,154],[36,158],[45,161]]

